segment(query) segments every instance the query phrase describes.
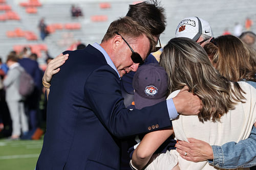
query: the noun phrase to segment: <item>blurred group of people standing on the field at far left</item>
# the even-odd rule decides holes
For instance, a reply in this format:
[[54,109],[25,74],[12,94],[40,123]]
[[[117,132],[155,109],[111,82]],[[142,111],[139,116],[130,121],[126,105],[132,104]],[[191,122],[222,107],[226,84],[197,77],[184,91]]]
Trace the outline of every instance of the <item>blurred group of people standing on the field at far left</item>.
[[6,62],[1,61],[0,72],[1,136],[13,140],[39,139],[43,133],[40,126],[43,126],[41,123],[46,115],[41,82],[43,72],[37,55],[28,47],[19,54],[11,51]]

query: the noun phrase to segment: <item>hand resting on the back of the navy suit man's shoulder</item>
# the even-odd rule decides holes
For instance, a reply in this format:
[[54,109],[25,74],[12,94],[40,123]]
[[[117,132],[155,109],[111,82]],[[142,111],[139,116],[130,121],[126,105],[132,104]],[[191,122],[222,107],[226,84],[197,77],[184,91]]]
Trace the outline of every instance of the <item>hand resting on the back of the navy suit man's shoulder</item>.
[[55,75],[60,70],[60,66],[65,63],[65,61],[69,58],[69,54],[63,55],[60,54],[56,58],[54,58],[50,63],[47,65],[46,71],[42,79],[46,82],[51,83],[52,76]]

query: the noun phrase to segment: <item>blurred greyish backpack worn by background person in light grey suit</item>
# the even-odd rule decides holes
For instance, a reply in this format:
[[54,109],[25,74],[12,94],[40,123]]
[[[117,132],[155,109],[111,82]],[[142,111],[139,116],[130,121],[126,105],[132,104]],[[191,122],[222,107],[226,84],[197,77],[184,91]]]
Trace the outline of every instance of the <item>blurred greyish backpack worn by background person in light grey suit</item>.
[[33,78],[24,70],[20,74],[19,93],[23,96],[30,95],[34,90]]

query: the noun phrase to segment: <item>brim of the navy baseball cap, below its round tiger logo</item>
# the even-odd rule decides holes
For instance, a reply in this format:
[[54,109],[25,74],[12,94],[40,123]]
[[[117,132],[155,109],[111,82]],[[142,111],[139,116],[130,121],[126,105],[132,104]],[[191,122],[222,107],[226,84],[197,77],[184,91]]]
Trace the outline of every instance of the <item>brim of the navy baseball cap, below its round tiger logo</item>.
[[140,96],[138,93],[134,93],[135,108],[142,109],[143,107],[153,106],[159,102],[165,101],[165,97],[161,99],[147,99]]

